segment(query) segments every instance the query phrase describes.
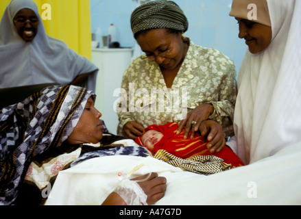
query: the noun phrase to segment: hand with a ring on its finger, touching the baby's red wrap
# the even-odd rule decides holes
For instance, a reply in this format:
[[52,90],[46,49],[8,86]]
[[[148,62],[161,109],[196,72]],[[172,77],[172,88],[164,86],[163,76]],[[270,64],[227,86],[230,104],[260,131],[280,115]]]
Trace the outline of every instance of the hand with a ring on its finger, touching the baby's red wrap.
[[201,123],[204,120],[207,120],[213,111],[214,107],[211,104],[198,105],[187,114],[184,120],[181,121],[178,127],[178,133],[185,127],[184,138],[188,138],[189,131],[191,130],[191,139],[193,139],[195,137],[195,132],[199,130]]

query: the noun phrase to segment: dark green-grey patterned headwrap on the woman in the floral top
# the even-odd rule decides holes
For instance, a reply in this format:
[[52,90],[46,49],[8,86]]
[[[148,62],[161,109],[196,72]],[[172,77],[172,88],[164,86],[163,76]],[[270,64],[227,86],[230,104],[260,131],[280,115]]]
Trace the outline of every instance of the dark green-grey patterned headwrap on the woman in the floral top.
[[132,12],[131,27],[134,35],[139,31],[157,28],[186,31],[188,20],[173,1],[150,1]]

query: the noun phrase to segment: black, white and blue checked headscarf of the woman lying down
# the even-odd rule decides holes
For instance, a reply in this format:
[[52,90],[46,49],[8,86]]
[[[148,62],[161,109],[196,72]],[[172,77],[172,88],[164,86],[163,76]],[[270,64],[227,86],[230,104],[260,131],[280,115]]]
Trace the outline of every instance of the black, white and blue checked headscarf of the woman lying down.
[[14,201],[36,155],[67,140],[90,96],[86,88],[52,86],[0,111],[0,204]]

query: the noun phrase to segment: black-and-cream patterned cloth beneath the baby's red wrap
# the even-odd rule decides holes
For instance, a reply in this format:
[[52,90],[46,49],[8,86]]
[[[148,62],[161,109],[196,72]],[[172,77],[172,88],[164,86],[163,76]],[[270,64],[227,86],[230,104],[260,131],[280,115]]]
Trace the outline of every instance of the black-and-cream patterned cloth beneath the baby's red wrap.
[[231,164],[224,163],[224,159],[214,155],[197,155],[182,159],[176,157],[167,151],[160,149],[154,155],[156,159],[160,159],[167,164],[181,168],[182,170],[195,172],[202,175],[211,175],[217,172],[230,170]]

